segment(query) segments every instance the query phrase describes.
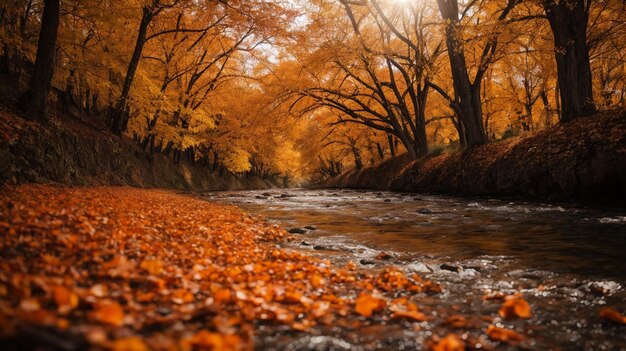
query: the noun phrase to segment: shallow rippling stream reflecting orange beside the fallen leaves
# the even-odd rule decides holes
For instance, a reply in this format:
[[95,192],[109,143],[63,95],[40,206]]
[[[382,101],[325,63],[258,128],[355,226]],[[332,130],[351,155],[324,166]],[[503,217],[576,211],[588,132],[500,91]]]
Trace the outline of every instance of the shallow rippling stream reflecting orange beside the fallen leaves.
[[[463,313],[497,315],[483,295],[521,292],[533,317],[499,323],[532,336],[523,348],[626,350],[626,327],[598,317],[602,307],[626,308],[626,210],[334,189],[205,197],[297,229],[292,247],[339,265],[394,265],[441,283],[443,296],[423,301],[433,314],[447,301],[443,307]],[[376,260],[380,252],[393,258]],[[420,348],[436,333],[429,328],[387,347]],[[318,349],[342,349],[340,341]]]

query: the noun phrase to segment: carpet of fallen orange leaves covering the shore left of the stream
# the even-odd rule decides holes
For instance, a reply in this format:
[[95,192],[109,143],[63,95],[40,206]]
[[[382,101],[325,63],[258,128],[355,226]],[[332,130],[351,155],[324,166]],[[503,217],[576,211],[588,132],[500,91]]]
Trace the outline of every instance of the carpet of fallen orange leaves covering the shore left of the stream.
[[[8,349],[249,350],[283,339],[309,349],[319,340],[297,340],[333,334],[343,339],[326,339],[325,349],[349,349],[342,341],[350,338],[385,348],[385,336],[428,323],[439,332],[420,345],[435,351],[528,341],[497,323],[531,317],[520,295],[486,296],[499,306],[493,316],[422,311],[420,299],[439,294],[438,284],[282,249],[291,240],[283,229],[236,207],[119,187],[0,192],[0,344]],[[601,317],[626,323],[615,310]]]

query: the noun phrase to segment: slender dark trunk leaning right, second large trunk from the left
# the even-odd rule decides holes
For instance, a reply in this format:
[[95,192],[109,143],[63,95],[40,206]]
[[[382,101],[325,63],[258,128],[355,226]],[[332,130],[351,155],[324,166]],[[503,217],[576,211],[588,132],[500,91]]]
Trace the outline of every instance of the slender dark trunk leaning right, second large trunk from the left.
[[124,86],[122,87],[122,94],[117,101],[115,112],[113,113],[111,121],[111,131],[117,135],[122,135],[122,132],[128,124],[126,105],[128,104],[130,88],[133,85],[133,80],[135,79],[135,73],[137,72],[137,67],[139,66],[141,53],[143,52],[143,47],[146,43],[146,33],[148,32],[148,26],[150,25],[150,22],[152,22],[152,18],[152,10],[148,6],[144,6],[143,16],[141,17],[141,23],[139,24],[139,33],[137,33],[137,41],[135,43],[135,49],[133,50],[133,56],[128,63],[126,78],[124,79]]

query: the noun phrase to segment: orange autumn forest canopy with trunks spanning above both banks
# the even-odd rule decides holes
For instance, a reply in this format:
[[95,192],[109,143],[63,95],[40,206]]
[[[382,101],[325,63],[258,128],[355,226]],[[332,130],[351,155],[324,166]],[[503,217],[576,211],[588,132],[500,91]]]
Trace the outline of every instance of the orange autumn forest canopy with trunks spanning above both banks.
[[148,152],[309,181],[625,107],[625,17],[620,0],[7,0],[0,69],[30,80],[29,118],[50,81],[64,113]]

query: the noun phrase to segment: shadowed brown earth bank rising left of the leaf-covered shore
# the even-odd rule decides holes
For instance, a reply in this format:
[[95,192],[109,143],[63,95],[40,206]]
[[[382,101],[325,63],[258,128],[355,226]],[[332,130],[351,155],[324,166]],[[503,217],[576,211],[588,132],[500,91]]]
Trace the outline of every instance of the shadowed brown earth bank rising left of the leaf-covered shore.
[[97,121],[52,113],[45,125],[0,104],[0,183],[130,185],[190,190],[265,189],[258,177],[237,177],[161,154],[148,154]]

